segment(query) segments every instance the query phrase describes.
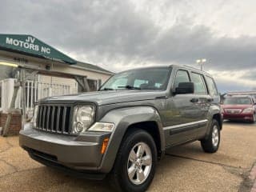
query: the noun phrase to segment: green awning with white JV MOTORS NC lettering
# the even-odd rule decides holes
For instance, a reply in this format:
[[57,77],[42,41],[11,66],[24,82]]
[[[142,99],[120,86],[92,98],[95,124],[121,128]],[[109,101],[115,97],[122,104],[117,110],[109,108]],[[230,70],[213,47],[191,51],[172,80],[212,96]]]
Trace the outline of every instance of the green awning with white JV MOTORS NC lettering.
[[0,47],[7,50],[14,50],[23,54],[31,54],[42,58],[76,64],[77,62],[62,54],[62,52],[48,46],[46,43],[26,34],[0,34]]

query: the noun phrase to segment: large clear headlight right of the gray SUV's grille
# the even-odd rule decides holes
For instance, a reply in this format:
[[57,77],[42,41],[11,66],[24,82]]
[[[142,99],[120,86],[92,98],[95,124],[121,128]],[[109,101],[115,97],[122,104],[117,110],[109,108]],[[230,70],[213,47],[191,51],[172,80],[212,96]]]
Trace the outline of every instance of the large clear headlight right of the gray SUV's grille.
[[75,106],[74,107],[74,134],[86,131],[94,122],[94,106]]

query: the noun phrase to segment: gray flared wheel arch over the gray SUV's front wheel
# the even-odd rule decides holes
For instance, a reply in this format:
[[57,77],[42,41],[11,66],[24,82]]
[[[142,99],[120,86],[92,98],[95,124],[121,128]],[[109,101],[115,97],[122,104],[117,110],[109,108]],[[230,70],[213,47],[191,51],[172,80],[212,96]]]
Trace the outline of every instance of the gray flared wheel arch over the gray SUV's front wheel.
[[162,130],[162,122],[158,110],[154,107],[131,106],[111,110],[100,122],[114,122],[115,124],[106,153],[102,158],[102,165],[98,168],[101,172],[110,172],[114,166],[115,157],[122,139],[128,131],[136,128],[146,130],[154,138],[160,156],[164,154],[165,137]]

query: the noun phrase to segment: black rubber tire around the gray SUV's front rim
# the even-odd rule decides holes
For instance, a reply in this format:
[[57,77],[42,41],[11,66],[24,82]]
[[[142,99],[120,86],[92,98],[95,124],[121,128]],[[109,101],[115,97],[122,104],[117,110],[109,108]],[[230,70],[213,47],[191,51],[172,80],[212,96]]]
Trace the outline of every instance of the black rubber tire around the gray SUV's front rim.
[[[147,177],[145,177],[146,180],[141,184],[135,185],[128,176],[128,166],[130,165],[128,163],[130,163],[129,158],[130,158],[131,151],[135,150],[136,148],[134,147],[136,147],[136,145],[140,145],[140,143],[146,143],[146,146],[148,146],[146,147],[146,149],[148,151],[150,149],[152,163],[150,166],[151,167],[150,171],[148,171]],[[157,149],[154,143],[154,139],[151,137],[151,135],[148,134],[145,130],[129,131],[122,140],[122,145],[119,147],[118,154],[114,163],[114,168],[109,175],[112,187],[114,187],[114,190],[117,190],[117,191],[126,191],[126,192],[146,191],[146,189],[150,186],[150,183],[154,178],[156,163],[157,163]],[[135,165],[135,164],[132,164],[132,165]],[[142,166],[140,167],[141,169],[143,169]]]

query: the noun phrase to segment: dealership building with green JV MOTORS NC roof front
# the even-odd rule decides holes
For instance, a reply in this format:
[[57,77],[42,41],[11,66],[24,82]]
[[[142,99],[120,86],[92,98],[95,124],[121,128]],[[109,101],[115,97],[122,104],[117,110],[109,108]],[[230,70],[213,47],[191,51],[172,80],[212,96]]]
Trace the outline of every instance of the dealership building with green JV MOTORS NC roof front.
[[[32,35],[0,34],[2,114],[10,108],[15,85],[21,79],[24,86],[18,87],[14,108],[25,110],[29,117],[38,99],[98,90],[112,74],[102,67],[78,62]],[[22,108],[23,93],[25,104]]]

